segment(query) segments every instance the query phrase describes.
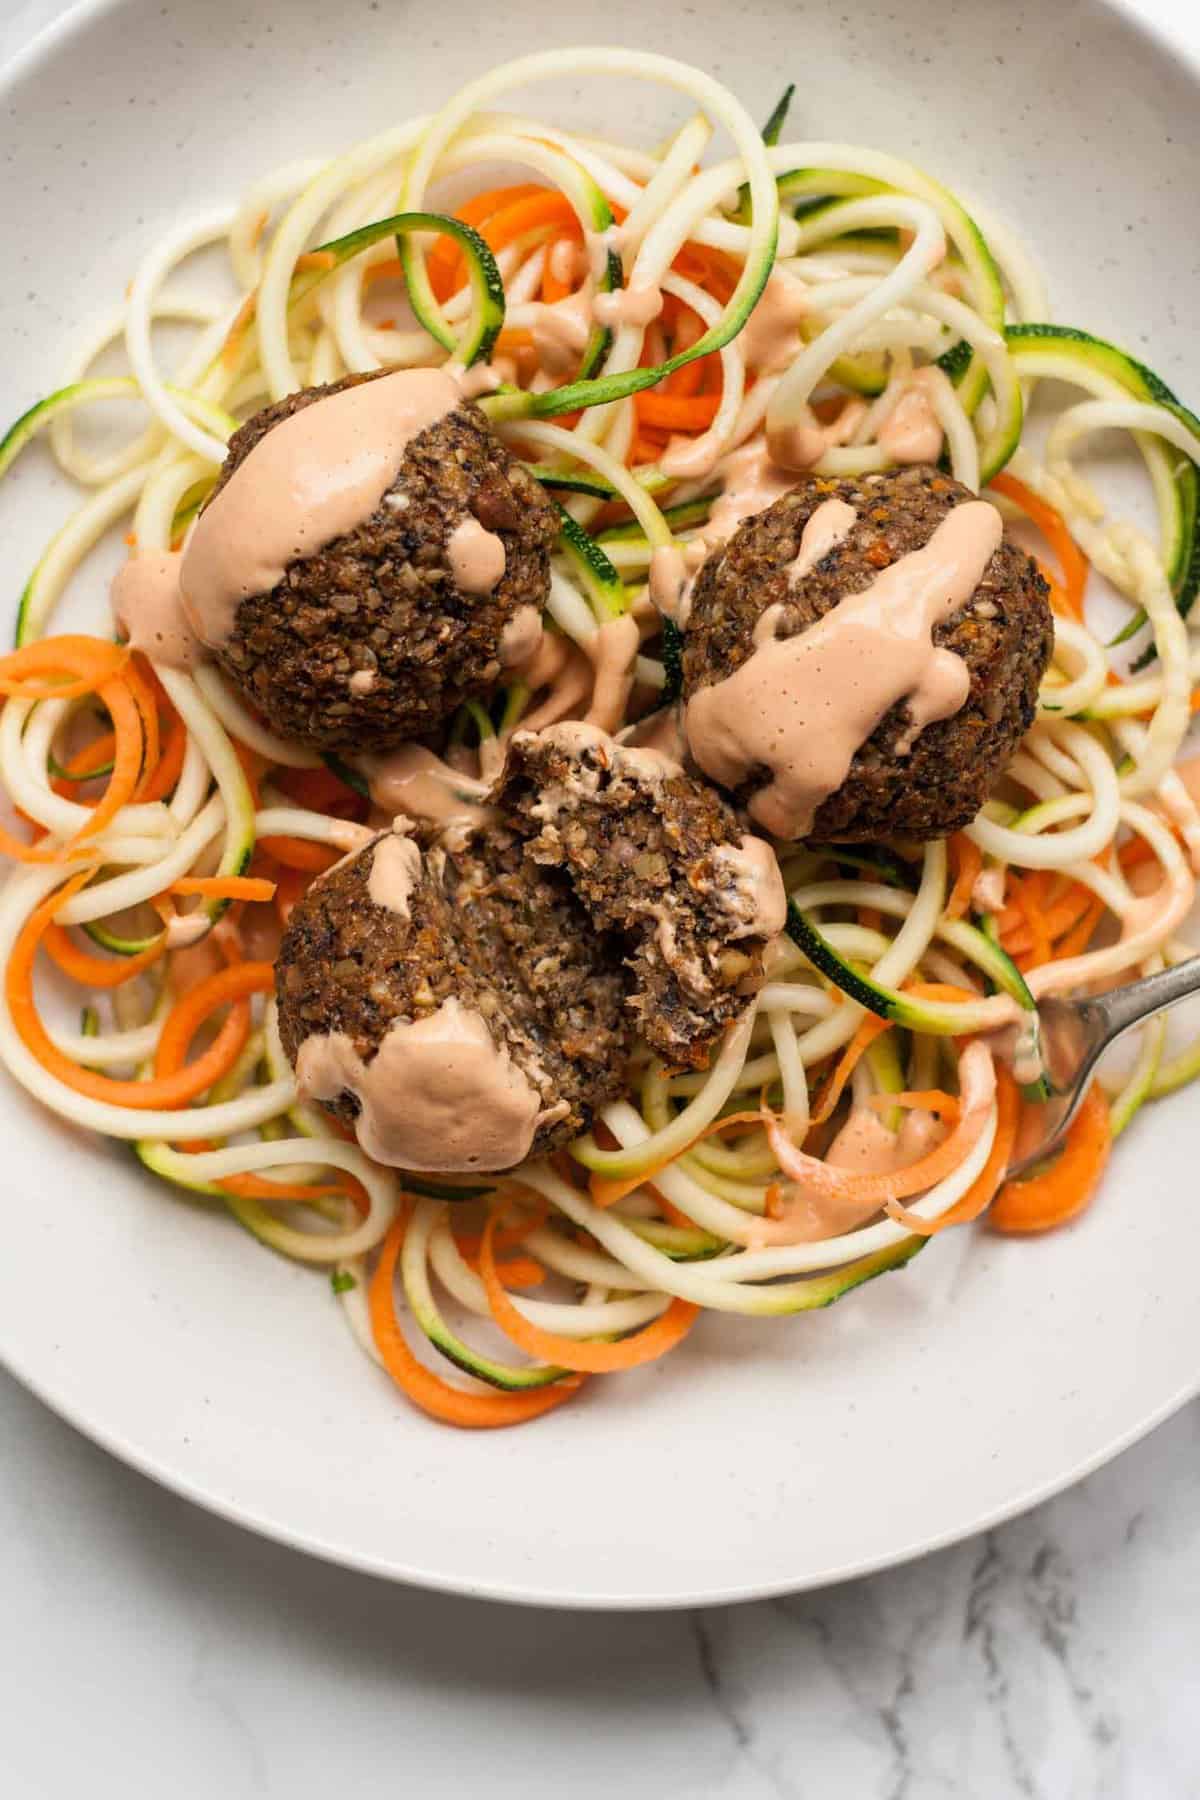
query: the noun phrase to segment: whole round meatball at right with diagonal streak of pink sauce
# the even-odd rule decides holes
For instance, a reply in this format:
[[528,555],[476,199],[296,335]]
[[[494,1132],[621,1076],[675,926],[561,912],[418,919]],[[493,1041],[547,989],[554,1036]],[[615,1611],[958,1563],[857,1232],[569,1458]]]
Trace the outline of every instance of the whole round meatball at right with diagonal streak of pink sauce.
[[[973,508],[970,518],[946,527],[964,506]],[[943,567],[936,553],[950,535],[966,540],[970,520],[986,527],[977,535],[977,567],[970,556]],[[934,549],[918,556],[936,535]],[[907,569],[921,567],[925,599],[943,605],[934,614],[932,650],[928,632],[925,650],[918,646],[919,691],[903,686],[901,639],[885,608],[878,608],[880,626],[864,598],[856,639],[847,635],[824,671],[813,655],[806,689],[793,671],[792,682],[779,679],[777,691],[766,691],[768,664],[757,661],[763,693],[747,706],[754,686],[747,666],[766,653],[786,677],[786,657],[797,657],[779,646],[853,596],[887,590],[889,605],[910,614],[910,599],[894,598],[903,571],[887,576],[901,560]],[[813,639],[813,652],[828,637]],[[1033,724],[1051,650],[1047,585],[1036,563],[1000,535],[995,509],[961,482],[925,466],[860,481],[813,475],[745,520],[696,578],[684,648],[689,749],[775,835],[828,842],[945,837],[975,817]],[[882,709],[873,713],[880,695]],[[835,745],[847,720],[860,720],[864,731],[853,756],[849,743]],[[793,779],[793,794],[808,781],[810,805],[792,806],[792,830],[781,828],[788,823],[781,770]],[[829,770],[837,772],[822,783]]]

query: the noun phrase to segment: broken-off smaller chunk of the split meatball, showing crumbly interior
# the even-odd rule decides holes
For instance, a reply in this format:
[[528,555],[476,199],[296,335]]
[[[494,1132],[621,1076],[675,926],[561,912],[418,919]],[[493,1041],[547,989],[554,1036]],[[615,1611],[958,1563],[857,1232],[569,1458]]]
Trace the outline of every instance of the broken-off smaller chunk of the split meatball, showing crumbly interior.
[[770,844],[678,763],[585,724],[516,733],[493,801],[531,864],[565,869],[596,927],[624,943],[642,1039],[703,1067],[784,923]]

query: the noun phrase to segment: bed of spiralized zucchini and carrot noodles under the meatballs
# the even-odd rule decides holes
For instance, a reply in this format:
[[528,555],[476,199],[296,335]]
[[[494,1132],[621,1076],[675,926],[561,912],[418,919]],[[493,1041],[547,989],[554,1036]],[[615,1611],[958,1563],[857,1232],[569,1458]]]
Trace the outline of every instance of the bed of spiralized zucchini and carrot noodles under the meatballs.
[[[585,77],[657,83],[676,106],[660,146],[493,110]],[[768,137],[781,124],[783,108]],[[214,248],[228,292],[201,301],[185,266]],[[743,328],[790,286],[795,340],[759,367]],[[574,374],[540,347],[567,317],[554,308],[574,310]],[[126,367],[94,373],[115,351]],[[1200,419],[1137,358],[1052,324],[1042,272],[990,209],[882,151],[765,142],[709,74],[639,50],[495,68],[153,245],[61,387],[0,441],[0,475],[38,439],[85,490],[25,581],[16,644],[50,641],[72,583],[95,589],[113,527],[139,551],[184,545],[263,403],[349,373],[475,378],[488,358],[480,405],[560,502],[545,610],[561,670],[462,707],[446,754],[464,796],[486,796],[522,720],[588,711],[610,621],[639,652],[621,725],[637,743],[682,679],[651,558],[694,569],[712,547],[732,452],[820,427],[817,477],[882,472],[914,383],[943,466],[973,491],[995,481],[1004,517],[1043,533],[1056,643],[1004,781],[948,844],[775,846],[788,931],[707,1067],[639,1046],[626,1091],[569,1152],[450,1181],[345,1141],[300,1098],[279,1039],[279,929],[380,823],[365,770],[277,736],[212,662],[124,657],[99,608],[90,686],[59,697],[13,677],[0,783],[36,841],[0,891],[9,1075],[324,1267],[365,1355],[461,1424],[534,1417],[581,1377],[671,1348],[694,1309],[817,1310],[993,1201],[1002,1226],[1016,1112],[1036,1102],[981,1033],[1011,1030],[1020,1051],[1043,995],[1191,956],[1178,931],[1200,869],[1196,787],[1175,767],[1200,686]],[[1025,409],[1049,380],[1083,398],[1034,452]],[[103,448],[79,430],[90,409],[119,421]],[[1092,481],[1101,432],[1146,473],[1150,536]],[[1117,639],[1088,563],[1126,607]],[[110,781],[124,785],[101,817]],[[1106,1138],[1198,1075],[1198,1046],[1171,1051],[1162,1021],[1144,1026],[1106,1078]],[[419,1355],[396,1348],[398,1294]],[[450,1366],[457,1386],[434,1375]]]

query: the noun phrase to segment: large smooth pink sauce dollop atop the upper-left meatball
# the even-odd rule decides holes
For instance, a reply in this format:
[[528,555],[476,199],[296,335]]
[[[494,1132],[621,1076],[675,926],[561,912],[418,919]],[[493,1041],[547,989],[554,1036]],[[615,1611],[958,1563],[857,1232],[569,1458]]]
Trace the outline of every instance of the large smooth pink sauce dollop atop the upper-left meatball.
[[412,439],[459,400],[444,369],[401,369],[266,432],[200,515],[184,553],[184,608],[196,637],[223,644],[243,599],[270,592],[297,556],[369,518]]

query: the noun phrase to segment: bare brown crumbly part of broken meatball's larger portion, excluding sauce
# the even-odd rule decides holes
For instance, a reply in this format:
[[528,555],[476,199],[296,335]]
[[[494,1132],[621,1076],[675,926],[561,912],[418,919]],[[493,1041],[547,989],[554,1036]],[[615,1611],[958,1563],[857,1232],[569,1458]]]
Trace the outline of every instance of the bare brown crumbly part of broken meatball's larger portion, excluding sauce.
[[[344,1031],[369,1062],[392,1024],[453,997],[484,1017],[554,1114],[533,1154],[570,1143],[624,1087],[619,956],[563,877],[534,868],[509,832],[426,850],[407,914],[371,898],[380,842],[317,880],[291,913],[275,965],[288,1058],[309,1035]],[[358,1102],[342,1094],[329,1111],[353,1123]]]

